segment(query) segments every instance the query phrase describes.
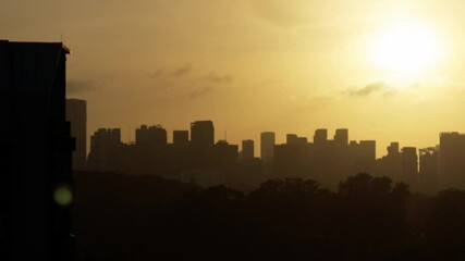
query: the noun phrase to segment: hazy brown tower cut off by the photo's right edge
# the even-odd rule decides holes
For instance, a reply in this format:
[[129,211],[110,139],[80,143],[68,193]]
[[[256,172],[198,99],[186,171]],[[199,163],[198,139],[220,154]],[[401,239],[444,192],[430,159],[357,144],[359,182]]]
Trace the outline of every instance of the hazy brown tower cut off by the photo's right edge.
[[440,189],[465,188],[465,134],[441,133],[439,138]]

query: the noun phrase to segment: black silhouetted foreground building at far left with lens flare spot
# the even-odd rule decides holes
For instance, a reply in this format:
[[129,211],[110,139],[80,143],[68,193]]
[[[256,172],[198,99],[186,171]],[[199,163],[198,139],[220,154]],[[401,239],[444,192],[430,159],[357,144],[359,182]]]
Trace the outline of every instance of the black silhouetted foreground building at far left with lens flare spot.
[[61,42],[0,40],[0,260],[73,260]]

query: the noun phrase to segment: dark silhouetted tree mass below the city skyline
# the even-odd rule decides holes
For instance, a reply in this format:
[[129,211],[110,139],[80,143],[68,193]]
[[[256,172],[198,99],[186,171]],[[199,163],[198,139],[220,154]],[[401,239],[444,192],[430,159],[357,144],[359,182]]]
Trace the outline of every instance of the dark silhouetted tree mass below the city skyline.
[[244,194],[76,172],[78,260],[464,260],[465,190],[428,197],[366,173],[336,191],[278,178]]

